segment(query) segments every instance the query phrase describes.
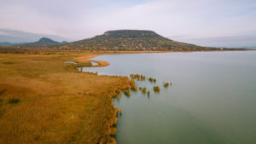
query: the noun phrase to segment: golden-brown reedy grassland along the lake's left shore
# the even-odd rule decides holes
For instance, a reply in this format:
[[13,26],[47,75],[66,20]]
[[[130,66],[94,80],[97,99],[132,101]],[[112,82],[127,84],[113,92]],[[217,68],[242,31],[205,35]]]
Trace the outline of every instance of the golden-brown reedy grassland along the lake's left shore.
[[0,143],[115,143],[112,95],[129,79],[64,63],[86,55],[98,54],[0,54]]

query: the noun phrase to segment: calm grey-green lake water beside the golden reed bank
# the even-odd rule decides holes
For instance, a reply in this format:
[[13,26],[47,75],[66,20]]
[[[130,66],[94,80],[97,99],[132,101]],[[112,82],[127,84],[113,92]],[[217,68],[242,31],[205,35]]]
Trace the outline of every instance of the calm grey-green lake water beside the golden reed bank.
[[[122,95],[118,144],[255,144],[256,51],[101,55],[107,67],[84,68],[99,74],[140,73],[157,79],[137,82]],[[172,82],[165,89],[163,82]],[[154,93],[160,85],[160,94]]]

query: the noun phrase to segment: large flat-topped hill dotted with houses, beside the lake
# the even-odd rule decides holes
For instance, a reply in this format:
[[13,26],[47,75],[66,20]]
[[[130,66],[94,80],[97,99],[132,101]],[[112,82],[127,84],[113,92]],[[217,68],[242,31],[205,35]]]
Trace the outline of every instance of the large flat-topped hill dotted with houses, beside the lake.
[[66,49],[94,50],[207,50],[215,48],[201,47],[189,43],[180,43],[152,31],[117,30],[102,35],[67,43]]

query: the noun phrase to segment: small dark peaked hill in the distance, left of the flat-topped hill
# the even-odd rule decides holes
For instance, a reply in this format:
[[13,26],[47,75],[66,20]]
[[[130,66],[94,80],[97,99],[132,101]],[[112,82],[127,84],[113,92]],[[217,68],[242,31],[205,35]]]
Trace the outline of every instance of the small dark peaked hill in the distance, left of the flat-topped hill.
[[34,43],[24,43],[21,44],[20,46],[26,46],[26,47],[37,47],[37,46],[51,46],[51,45],[59,45],[59,44],[65,44],[67,43],[66,41],[63,41],[62,43],[56,42],[54,40],[51,40],[49,38],[43,37],[39,39],[38,42]]

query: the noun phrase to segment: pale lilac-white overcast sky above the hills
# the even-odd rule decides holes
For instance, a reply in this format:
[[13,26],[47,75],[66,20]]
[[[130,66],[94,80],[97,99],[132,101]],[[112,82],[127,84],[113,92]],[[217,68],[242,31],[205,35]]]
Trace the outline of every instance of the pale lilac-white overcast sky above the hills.
[[256,36],[256,0],[0,0],[0,3],[1,29],[71,40],[119,29],[152,30],[180,40]]

